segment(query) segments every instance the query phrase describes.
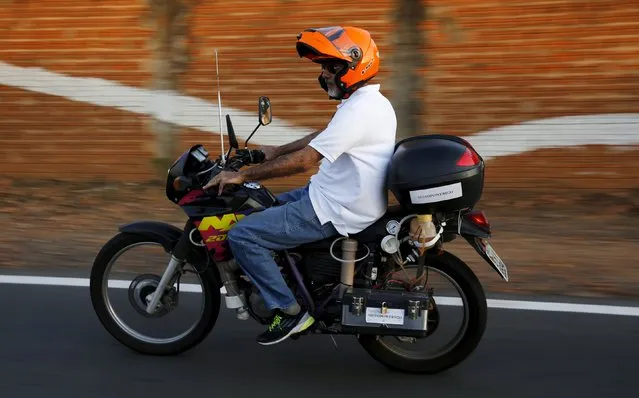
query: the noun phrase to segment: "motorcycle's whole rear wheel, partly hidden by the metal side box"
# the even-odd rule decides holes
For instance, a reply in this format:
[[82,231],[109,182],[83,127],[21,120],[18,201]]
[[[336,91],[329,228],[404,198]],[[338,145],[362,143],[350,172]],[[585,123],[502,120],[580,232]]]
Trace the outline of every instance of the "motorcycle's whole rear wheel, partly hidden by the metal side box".
[[[438,373],[449,369],[466,359],[477,348],[486,328],[487,304],[481,283],[472,270],[462,260],[444,252],[426,264],[431,273],[442,275],[452,282],[460,293],[460,298],[437,297],[434,292],[435,311],[430,311],[436,319],[432,325],[432,335],[422,339],[406,339],[393,336],[360,335],[359,343],[380,363],[407,373]],[[444,305],[442,305],[444,304]],[[440,351],[425,354],[423,351],[411,349],[418,344],[429,345],[429,341],[442,328],[446,320],[442,314],[444,306],[459,307],[463,315],[461,328],[456,336]],[[431,315],[429,314],[429,319]],[[429,321],[429,324],[431,322]]]

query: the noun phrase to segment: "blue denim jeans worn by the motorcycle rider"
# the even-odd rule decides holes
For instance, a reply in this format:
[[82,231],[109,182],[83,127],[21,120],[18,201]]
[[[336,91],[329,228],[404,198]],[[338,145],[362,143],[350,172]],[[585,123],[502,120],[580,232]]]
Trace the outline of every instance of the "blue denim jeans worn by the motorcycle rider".
[[271,250],[290,249],[338,234],[330,222],[320,224],[308,185],[285,192],[278,200],[286,204],[248,215],[231,228],[227,237],[235,260],[271,310],[288,308],[297,302]]

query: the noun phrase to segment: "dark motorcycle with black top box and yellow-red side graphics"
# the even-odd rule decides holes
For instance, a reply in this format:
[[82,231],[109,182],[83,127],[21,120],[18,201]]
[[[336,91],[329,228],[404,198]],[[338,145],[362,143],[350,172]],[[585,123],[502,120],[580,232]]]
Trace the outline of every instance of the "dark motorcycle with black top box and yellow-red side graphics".
[[[90,276],[92,305],[102,325],[123,345],[150,355],[189,350],[215,326],[222,298],[238,319],[269,323],[272,312],[234,260],[226,236],[242,218],[280,203],[259,182],[231,185],[219,195],[217,189],[202,187],[223,170],[263,162],[264,153],[248,149],[248,141],[271,121],[270,100],[260,97],[258,125],[243,149],[226,115],[226,154],[222,148],[212,160],[198,144],[172,164],[166,196],[188,217],[183,229],[156,221],[122,225],[97,254]],[[395,145],[386,182],[398,204],[357,234],[273,252],[288,286],[316,320],[291,339],[351,335],[373,359],[410,373],[437,373],[466,359],[486,327],[486,297],[471,268],[444,244],[461,236],[508,281],[506,265],[489,243],[491,225],[482,211],[473,209],[483,190],[484,167],[481,156],[461,138],[403,139]],[[125,324],[109,303],[107,272],[122,252],[142,243],[161,245],[170,261],[162,275],[141,274],[124,286],[137,313],[154,319],[167,316],[186,294],[181,278],[191,273],[199,281],[203,308],[194,325],[178,336],[145,336]],[[436,296],[429,283],[435,274],[450,281],[461,299]],[[428,346],[445,320],[442,309],[447,305],[462,308],[453,340],[434,354],[410,350],[424,341]]]

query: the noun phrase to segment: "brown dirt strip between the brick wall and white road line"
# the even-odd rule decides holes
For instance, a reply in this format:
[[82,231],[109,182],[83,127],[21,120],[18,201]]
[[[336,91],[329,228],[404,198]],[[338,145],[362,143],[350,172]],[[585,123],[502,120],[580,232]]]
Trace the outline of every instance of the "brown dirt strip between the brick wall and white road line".
[[[162,182],[0,179],[0,188],[3,269],[81,269],[88,274],[100,246],[119,224],[153,219],[181,226],[185,220],[164,197]],[[465,241],[446,248],[469,263],[487,292],[639,298],[634,257],[639,189],[601,194],[487,188],[477,208],[492,223],[492,242],[509,267],[510,282],[501,281]]]

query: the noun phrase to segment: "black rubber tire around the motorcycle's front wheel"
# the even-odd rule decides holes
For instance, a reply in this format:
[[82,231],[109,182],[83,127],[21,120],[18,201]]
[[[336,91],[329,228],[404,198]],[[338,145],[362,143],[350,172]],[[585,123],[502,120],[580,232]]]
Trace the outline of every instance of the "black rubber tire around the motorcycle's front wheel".
[[108,271],[112,259],[117,257],[127,248],[141,244],[161,244],[161,241],[152,235],[143,236],[131,233],[119,233],[109,240],[98,253],[91,269],[90,294],[93,309],[98,319],[106,330],[119,342],[142,354],[147,355],[177,355],[195,347],[202,342],[215,326],[220,312],[220,294],[217,283],[211,269],[200,274],[202,292],[204,295],[204,308],[197,324],[182,338],[168,343],[142,341],[123,330],[113,319],[108,309],[105,295],[105,273]]

